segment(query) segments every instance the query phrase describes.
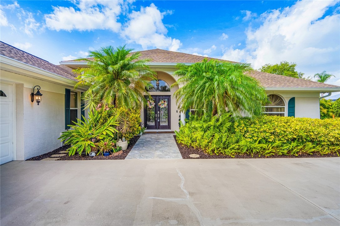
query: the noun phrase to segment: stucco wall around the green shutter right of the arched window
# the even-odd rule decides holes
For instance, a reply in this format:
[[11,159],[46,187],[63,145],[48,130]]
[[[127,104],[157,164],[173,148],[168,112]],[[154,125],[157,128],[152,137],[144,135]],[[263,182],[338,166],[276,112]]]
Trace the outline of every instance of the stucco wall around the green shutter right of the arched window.
[[320,92],[309,91],[267,91],[267,95],[276,94],[285,102],[285,116],[288,114],[288,101],[295,97],[295,117],[320,119]]

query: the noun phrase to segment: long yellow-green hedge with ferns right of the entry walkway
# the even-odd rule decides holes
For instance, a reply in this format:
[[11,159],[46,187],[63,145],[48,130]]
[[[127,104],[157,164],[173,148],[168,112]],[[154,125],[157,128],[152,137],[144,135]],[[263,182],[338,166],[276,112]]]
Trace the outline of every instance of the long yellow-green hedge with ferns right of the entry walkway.
[[216,155],[325,155],[340,150],[340,119],[262,116],[235,120],[229,114],[192,117],[176,139]]

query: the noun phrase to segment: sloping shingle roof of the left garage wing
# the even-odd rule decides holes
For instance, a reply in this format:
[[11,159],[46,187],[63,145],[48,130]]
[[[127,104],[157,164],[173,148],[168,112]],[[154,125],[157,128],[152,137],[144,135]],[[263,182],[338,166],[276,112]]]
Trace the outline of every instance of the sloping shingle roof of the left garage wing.
[[71,69],[66,66],[57,66],[39,57],[33,56],[32,54],[26,53],[14,46],[8,45],[0,41],[0,54],[23,63],[38,67],[43,70],[50,71],[54,74],[60,75],[62,77],[75,80],[75,75],[72,73]]

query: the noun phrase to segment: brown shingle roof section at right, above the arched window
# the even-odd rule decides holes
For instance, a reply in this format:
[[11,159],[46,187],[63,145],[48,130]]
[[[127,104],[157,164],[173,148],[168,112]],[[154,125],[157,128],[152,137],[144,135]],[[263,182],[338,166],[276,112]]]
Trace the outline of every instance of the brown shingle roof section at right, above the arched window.
[[340,86],[336,85],[296,79],[257,70],[251,71],[249,75],[256,78],[265,88],[340,88]]

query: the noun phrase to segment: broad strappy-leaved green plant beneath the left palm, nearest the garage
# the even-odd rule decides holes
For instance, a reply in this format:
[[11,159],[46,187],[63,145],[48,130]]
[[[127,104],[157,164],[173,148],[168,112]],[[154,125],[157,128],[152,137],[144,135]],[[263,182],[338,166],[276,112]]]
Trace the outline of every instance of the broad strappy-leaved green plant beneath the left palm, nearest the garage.
[[117,133],[115,128],[118,125],[117,118],[111,116],[105,123],[99,124],[100,118],[99,111],[89,112],[88,119],[84,117],[83,121],[77,119],[77,122],[74,122],[75,125],[69,125],[70,130],[62,132],[59,139],[64,141],[64,144],[71,145],[67,149],[69,156],[74,155],[75,152],[81,155],[83,151],[87,155],[91,151],[91,147],[96,147],[90,138],[101,140],[107,137],[114,137],[114,134]]

